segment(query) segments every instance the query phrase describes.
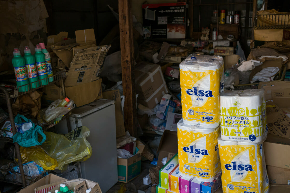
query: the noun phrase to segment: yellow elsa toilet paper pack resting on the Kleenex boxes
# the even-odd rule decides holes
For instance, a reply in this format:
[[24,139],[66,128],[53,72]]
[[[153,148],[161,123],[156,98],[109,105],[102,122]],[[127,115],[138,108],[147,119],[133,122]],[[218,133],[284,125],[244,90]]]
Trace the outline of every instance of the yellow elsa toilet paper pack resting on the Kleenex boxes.
[[218,137],[220,127],[214,129],[177,123],[178,163],[181,175],[197,177],[209,182],[220,171]]

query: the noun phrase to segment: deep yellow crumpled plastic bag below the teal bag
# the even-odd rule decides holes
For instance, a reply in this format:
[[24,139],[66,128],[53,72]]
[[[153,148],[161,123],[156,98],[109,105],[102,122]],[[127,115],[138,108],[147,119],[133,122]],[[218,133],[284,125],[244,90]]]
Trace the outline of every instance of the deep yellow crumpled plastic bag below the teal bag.
[[58,166],[56,159],[47,155],[39,146],[31,146],[29,148],[20,147],[20,153],[23,163],[34,161],[45,170],[55,170]]

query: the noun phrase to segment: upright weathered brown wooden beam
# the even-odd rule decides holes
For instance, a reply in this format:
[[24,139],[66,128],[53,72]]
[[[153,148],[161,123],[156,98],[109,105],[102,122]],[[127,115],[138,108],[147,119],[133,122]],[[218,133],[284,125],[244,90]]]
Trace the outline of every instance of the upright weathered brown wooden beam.
[[134,42],[131,0],[119,0],[119,26],[125,128],[137,137],[136,88],[134,67]]

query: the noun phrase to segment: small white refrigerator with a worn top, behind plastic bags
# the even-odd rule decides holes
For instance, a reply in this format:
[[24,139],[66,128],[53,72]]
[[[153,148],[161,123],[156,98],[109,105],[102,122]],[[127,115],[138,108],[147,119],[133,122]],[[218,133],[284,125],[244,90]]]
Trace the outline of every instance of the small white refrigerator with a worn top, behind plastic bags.
[[90,129],[87,140],[93,153],[80,162],[82,178],[99,183],[102,192],[107,192],[118,181],[114,101],[99,99],[75,108],[69,119],[71,129]]

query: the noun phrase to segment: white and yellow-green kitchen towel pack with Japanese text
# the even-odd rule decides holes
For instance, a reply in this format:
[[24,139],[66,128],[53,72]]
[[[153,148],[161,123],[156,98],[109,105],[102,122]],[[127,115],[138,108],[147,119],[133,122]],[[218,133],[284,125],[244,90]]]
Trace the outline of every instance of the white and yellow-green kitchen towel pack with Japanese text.
[[264,89],[225,91],[220,95],[221,138],[261,143],[267,137]]

